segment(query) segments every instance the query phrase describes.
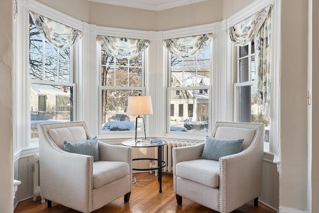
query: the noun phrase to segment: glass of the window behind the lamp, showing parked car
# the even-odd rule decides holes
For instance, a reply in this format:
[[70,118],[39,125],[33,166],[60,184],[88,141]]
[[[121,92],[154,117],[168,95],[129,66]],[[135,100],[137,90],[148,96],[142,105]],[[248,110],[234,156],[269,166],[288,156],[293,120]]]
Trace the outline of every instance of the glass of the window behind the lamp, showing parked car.
[[[100,47],[100,45],[99,45]],[[144,52],[133,59],[119,59],[101,48],[100,126],[102,133],[135,131],[138,115],[127,115],[129,96],[143,95]],[[138,130],[142,130],[138,119]]]

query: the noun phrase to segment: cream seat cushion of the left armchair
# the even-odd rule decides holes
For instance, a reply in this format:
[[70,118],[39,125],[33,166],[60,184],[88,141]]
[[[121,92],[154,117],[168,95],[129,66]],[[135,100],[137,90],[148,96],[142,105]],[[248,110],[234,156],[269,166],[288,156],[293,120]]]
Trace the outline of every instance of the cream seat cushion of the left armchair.
[[115,180],[128,176],[130,166],[122,161],[93,162],[93,188],[97,189]]

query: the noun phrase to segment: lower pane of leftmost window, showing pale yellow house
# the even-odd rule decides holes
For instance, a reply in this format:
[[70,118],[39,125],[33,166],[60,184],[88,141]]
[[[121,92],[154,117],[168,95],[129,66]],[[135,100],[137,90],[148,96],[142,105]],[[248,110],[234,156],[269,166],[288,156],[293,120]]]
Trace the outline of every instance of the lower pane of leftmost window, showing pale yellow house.
[[73,87],[31,84],[31,138],[40,123],[73,121]]

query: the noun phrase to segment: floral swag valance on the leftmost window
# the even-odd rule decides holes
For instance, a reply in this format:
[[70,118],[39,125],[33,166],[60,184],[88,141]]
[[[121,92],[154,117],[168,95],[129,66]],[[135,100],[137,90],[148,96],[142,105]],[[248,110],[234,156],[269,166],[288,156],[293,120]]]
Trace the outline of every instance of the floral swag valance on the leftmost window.
[[29,11],[35,27],[52,46],[67,49],[82,37],[80,30],[64,25],[43,15]]

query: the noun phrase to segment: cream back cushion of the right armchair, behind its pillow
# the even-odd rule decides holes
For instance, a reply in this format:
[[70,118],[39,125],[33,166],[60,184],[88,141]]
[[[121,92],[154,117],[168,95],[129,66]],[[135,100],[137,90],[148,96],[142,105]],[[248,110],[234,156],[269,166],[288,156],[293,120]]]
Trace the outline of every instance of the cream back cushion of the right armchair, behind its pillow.
[[240,127],[218,127],[215,138],[220,139],[244,139],[241,151],[247,149],[255,136],[255,130]]

